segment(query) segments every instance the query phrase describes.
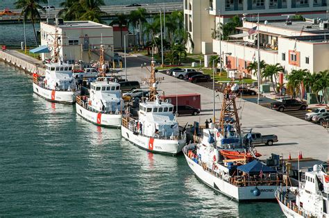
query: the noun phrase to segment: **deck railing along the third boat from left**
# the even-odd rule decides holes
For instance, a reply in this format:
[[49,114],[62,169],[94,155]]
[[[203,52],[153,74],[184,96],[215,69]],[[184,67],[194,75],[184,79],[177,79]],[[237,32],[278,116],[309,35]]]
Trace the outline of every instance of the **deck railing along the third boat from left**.
[[132,117],[124,117],[122,119],[122,126],[128,128],[129,131],[142,135],[144,137],[153,137],[158,140],[185,140],[186,132],[179,132],[178,135],[160,135],[158,133],[153,133],[153,135],[145,135],[139,125],[137,125],[138,120]]

